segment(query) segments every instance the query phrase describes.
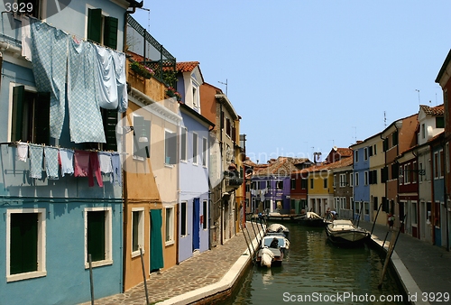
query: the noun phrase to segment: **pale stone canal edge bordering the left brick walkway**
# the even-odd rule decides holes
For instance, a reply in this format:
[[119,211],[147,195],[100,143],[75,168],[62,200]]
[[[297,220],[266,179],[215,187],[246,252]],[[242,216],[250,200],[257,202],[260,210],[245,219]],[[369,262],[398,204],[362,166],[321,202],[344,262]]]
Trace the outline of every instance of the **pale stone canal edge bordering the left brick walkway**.
[[[263,236],[264,229],[257,233],[257,236]],[[252,241],[251,249],[258,249],[259,238],[255,237]],[[257,250],[256,250],[257,251]],[[226,300],[230,297],[235,289],[235,286],[242,276],[246,273],[250,265],[253,263],[253,253],[249,252],[249,248],[238,258],[232,265],[230,270],[222,277],[219,282],[198,288],[194,291],[189,291],[180,294],[168,300],[158,302],[159,305],[185,305],[185,304],[212,304],[219,301]]]

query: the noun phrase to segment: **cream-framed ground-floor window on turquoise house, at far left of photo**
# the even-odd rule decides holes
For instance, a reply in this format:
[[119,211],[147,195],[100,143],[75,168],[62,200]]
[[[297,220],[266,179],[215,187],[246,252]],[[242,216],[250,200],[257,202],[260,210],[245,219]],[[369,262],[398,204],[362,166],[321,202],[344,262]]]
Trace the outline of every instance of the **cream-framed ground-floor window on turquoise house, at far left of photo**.
[[47,275],[45,208],[6,211],[6,282]]

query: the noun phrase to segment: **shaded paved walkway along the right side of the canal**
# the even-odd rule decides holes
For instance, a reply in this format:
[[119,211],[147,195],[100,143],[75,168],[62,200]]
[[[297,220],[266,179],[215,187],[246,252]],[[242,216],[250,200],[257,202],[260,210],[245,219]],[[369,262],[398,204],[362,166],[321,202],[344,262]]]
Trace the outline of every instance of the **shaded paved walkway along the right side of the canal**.
[[[360,222],[359,226],[371,231],[373,223]],[[379,239],[383,242],[385,236],[389,232],[388,226],[375,225],[373,229],[373,240]],[[390,244],[391,234],[397,234],[397,231],[389,232],[385,245]],[[447,252],[445,248],[419,240],[418,238],[400,233],[398,241],[394,248],[394,254],[391,257],[392,263],[396,268],[400,267],[397,272],[404,286],[418,286],[419,291],[409,291],[410,294],[417,292],[416,304],[451,304],[451,252]],[[402,270],[405,266],[405,271]],[[413,280],[413,282],[412,282]],[[426,296],[423,292],[430,293]],[[447,301],[445,296],[447,294]],[[442,296],[441,301],[433,301]],[[420,302],[422,297],[428,302]]]

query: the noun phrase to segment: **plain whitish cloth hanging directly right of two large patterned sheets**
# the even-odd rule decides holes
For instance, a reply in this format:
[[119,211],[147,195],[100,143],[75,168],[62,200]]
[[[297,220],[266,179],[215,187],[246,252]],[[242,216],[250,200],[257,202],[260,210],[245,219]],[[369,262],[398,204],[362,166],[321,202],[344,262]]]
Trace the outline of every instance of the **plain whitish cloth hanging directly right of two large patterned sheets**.
[[113,51],[97,44],[95,48],[98,73],[98,81],[96,82],[98,106],[105,109],[115,109],[118,105],[118,98]]

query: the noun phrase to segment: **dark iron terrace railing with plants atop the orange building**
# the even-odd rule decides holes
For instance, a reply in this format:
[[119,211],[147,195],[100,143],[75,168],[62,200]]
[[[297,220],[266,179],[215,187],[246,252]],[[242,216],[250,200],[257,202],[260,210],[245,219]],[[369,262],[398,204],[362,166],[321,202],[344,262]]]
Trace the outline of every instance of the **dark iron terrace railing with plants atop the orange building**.
[[[143,57],[142,63],[155,72],[153,76],[155,79],[165,83],[168,87],[177,89],[177,60],[175,57],[130,14],[127,14],[127,25],[128,50]],[[138,37],[134,35],[138,35]]]

